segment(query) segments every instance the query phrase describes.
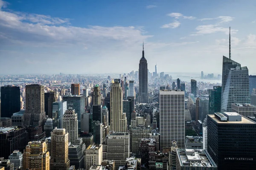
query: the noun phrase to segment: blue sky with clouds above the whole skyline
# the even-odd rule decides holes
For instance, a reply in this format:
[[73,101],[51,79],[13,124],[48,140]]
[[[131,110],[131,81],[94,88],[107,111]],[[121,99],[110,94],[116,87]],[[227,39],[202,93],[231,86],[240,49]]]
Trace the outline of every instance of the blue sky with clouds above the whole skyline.
[[0,75],[137,71],[256,74],[255,0],[0,0]]

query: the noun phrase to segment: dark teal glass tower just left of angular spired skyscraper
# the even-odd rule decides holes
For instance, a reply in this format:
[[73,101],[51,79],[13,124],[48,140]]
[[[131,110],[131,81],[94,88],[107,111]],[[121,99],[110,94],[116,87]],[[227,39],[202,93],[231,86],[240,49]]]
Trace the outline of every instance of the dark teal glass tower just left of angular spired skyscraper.
[[209,89],[209,114],[221,111],[221,86]]

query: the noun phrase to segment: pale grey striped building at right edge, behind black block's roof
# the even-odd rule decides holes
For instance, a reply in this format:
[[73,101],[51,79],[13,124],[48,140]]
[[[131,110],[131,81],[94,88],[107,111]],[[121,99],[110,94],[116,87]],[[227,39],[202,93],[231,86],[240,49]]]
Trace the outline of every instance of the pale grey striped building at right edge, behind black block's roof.
[[248,103],[233,103],[232,112],[236,112],[244,117],[254,116],[256,113],[256,105],[251,105]]

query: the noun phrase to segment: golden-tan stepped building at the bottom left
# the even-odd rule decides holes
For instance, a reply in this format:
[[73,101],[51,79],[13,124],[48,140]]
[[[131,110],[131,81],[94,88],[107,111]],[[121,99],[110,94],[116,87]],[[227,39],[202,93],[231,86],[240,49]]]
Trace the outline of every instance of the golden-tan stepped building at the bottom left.
[[46,142],[29,142],[23,153],[23,169],[50,170],[50,154]]

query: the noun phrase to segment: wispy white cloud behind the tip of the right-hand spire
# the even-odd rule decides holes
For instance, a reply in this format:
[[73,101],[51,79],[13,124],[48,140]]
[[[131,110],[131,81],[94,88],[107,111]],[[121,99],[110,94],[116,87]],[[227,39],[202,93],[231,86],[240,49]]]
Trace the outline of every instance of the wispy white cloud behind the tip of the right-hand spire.
[[[198,26],[195,28],[197,31],[194,34],[191,34],[191,36],[195,35],[203,35],[203,34],[213,34],[217,32],[229,34],[229,28],[223,28],[219,27],[218,25],[203,25]],[[231,29],[231,34],[236,34],[238,30]]]

